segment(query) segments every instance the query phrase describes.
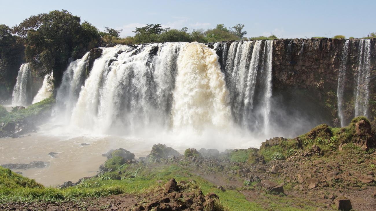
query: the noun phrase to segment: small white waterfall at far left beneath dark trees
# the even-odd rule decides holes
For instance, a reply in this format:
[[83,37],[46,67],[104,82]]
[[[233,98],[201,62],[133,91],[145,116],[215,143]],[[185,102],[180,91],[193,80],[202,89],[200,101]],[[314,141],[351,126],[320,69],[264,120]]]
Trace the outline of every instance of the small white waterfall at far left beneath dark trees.
[[24,63],[21,65],[18,71],[17,81],[12,93],[13,105],[29,105],[31,102],[31,69],[30,63]]

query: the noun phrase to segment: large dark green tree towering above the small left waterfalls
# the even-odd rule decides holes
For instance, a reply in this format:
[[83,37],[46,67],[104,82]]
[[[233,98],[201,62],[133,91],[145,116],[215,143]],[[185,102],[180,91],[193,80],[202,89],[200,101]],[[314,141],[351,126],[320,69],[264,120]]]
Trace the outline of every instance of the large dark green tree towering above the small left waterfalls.
[[25,40],[25,57],[33,69],[53,71],[60,81],[70,57],[82,56],[100,42],[99,31],[88,22],[66,10],[33,15],[13,27]]

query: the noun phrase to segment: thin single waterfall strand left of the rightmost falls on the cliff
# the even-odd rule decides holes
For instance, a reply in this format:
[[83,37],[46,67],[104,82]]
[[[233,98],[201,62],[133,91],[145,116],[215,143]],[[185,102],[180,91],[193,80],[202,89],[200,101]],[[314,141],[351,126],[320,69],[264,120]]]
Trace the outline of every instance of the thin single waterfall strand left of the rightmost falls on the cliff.
[[338,85],[337,85],[337,105],[338,105],[338,117],[340,118],[341,127],[345,127],[345,120],[343,114],[343,92],[345,87],[346,65],[347,58],[349,57],[349,43],[347,40],[343,45],[340,71],[338,72]]

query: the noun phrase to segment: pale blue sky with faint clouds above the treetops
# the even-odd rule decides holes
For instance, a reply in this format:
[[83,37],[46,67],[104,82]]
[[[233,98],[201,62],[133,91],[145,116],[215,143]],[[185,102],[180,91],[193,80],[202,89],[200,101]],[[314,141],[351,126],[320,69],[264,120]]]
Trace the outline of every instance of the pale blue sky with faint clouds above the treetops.
[[181,29],[227,27],[245,24],[247,37],[270,35],[279,38],[312,36],[347,38],[376,32],[376,0],[315,1],[53,1],[0,0],[0,24],[13,26],[31,15],[66,9],[99,29],[123,29],[121,36],[133,35],[135,27],[161,23]]

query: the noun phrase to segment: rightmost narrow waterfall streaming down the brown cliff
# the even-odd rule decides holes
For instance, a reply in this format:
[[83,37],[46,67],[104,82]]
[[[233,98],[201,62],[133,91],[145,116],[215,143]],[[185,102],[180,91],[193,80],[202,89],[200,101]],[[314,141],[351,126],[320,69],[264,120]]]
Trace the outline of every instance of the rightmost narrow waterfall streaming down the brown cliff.
[[358,51],[358,72],[356,74],[355,116],[366,116],[368,113],[371,40],[361,39]]

